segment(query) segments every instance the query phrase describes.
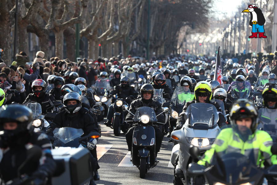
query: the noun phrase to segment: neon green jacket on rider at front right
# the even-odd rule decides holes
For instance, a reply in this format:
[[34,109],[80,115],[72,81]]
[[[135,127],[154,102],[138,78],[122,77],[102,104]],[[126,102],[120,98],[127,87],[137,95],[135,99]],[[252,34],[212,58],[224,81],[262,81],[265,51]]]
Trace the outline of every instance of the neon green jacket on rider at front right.
[[[218,154],[236,152],[248,156],[254,150],[256,164],[259,165],[259,159],[269,158],[272,155],[270,151],[272,144],[270,135],[263,130],[257,130],[246,142],[243,142],[232,128],[226,128],[219,133],[211,149],[205,152],[204,158],[198,161],[198,164],[210,164],[214,152]],[[276,155],[271,156],[267,162],[277,164]]]

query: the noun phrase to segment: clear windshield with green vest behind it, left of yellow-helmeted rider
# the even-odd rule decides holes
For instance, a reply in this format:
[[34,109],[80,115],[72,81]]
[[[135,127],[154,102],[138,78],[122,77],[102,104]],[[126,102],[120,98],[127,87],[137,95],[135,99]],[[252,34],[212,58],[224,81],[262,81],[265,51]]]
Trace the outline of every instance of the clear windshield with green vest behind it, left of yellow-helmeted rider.
[[190,89],[184,86],[176,87],[172,98],[171,104],[174,106],[184,106],[186,102],[194,99],[194,92],[190,92]]

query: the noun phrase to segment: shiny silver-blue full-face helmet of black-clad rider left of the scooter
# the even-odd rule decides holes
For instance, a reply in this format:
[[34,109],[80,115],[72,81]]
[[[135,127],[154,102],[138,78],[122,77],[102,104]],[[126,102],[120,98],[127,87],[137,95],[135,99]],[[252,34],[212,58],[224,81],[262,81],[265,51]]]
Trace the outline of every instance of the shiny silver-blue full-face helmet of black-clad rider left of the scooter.
[[[76,100],[77,104],[67,105],[68,101]],[[63,107],[67,113],[76,113],[82,108],[82,98],[77,92],[69,92],[63,97]]]

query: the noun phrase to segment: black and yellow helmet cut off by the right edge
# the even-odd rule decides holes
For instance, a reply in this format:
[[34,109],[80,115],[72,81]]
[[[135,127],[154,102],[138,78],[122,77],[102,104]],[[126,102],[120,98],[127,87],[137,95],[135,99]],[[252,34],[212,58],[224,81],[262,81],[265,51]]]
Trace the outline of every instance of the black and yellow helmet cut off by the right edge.
[[[269,84],[264,87],[263,92],[263,105],[269,109],[277,109],[277,87],[276,84]],[[276,102],[275,107],[269,107],[268,101]]]

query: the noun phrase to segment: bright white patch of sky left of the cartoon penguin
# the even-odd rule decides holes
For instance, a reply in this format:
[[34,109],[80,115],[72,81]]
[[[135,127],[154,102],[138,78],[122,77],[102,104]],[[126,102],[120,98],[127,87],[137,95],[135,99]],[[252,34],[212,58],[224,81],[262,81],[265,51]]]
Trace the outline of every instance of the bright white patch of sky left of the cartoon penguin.
[[215,7],[213,11],[215,11],[214,14],[218,18],[224,15],[229,18],[233,17],[235,12],[238,11],[238,6],[242,4],[242,0],[214,0],[213,2]]

